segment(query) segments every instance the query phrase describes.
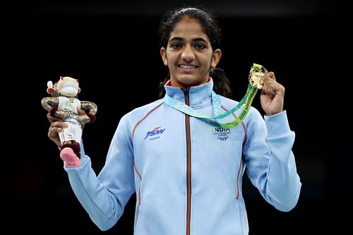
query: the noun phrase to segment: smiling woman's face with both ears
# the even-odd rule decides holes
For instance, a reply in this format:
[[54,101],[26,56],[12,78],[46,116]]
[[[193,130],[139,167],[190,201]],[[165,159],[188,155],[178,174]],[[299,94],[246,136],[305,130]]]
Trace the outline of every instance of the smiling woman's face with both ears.
[[188,88],[208,82],[210,68],[215,68],[221,51],[213,49],[198,20],[182,18],[170,33],[167,48],[160,54],[168,66],[173,86]]

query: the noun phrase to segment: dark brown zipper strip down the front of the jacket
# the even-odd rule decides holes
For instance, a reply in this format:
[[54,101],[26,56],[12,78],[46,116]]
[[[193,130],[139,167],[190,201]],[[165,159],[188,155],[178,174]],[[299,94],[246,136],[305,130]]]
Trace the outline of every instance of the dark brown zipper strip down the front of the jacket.
[[[190,106],[189,88],[184,90],[185,104]],[[186,124],[186,186],[187,186],[187,205],[186,205],[186,235],[190,235],[191,221],[191,138],[190,138],[190,116],[185,114]]]

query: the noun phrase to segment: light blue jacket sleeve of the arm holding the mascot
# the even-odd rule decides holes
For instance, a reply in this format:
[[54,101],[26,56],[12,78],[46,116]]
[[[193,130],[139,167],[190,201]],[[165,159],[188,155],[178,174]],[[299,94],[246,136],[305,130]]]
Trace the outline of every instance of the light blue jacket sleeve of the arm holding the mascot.
[[135,192],[129,129],[124,116],[114,133],[106,162],[98,176],[91,167],[90,157],[83,151],[83,145],[80,167],[65,168],[73,192],[101,230],[110,229],[116,224]]

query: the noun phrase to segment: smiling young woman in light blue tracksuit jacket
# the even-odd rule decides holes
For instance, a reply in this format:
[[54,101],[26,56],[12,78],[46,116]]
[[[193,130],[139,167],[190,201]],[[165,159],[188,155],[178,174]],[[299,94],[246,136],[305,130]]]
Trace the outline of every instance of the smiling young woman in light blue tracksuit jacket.
[[[217,68],[220,28],[207,11],[181,8],[160,23],[160,54],[169,76],[162,98],[124,115],[98,176],[81,144],[80,165],[64,167],[78,200],[102,230],[116,224],[136,193],[134,234],[248,234],[241,190],[246,173],[277,210],[297,204],[301,182],[292,153],[294,132],[283,111],[285,88],[273,72],[261,78],[261,106],[232,128],[214,119],[239,102]],[[215,105],[218,102],[219,106]],[[232,122],[241,109],[222,119]],[[57,141],[59,120],[48,116]]]

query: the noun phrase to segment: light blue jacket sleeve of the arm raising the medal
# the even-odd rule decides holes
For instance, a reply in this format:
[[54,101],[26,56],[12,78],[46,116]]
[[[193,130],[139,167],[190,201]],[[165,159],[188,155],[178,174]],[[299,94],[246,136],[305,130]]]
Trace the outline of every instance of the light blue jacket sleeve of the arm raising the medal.
[[265,120],[256,110],[246,124],[244,158],[251,183],[277,210],[297,205],[301,181],[292,152],[295,134],[284,111]]

